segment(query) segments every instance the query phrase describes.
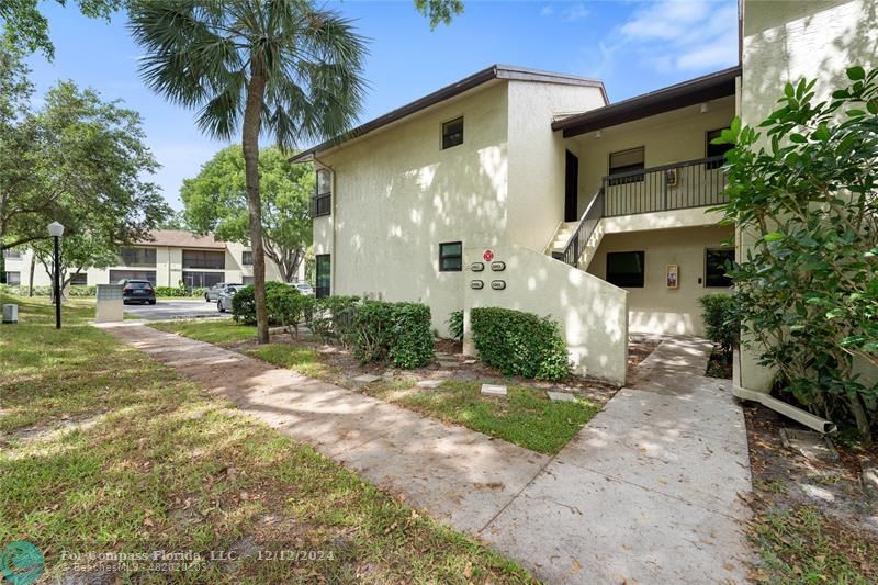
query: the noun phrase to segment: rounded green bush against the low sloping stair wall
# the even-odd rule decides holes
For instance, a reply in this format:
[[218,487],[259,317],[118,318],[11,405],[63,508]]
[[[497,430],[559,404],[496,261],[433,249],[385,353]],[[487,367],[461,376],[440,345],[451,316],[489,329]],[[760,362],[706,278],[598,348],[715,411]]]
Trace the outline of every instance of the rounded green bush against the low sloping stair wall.
[[509,308],[473,308],[473,342],[482,360],[506,375],[563,380],[571,373],[561,328],[549,317]]

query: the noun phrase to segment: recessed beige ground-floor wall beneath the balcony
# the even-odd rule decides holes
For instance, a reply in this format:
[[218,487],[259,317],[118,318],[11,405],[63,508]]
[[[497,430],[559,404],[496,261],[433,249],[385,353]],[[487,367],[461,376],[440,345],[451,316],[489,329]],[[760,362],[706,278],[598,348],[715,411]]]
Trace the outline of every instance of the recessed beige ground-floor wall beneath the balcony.
[[[703,335],[698,299],[730,289],[706,288],[705,249],[732,238],[731,227],[686,227],[608,234],[594,255],[588,272],[607,277],[607,252],[644,251],[642,289],[628,291],[629,329],[632,333]],[[678,265],[679,286],[666,286],[667,265]],[[699,282],[700,279],[700,282]]]

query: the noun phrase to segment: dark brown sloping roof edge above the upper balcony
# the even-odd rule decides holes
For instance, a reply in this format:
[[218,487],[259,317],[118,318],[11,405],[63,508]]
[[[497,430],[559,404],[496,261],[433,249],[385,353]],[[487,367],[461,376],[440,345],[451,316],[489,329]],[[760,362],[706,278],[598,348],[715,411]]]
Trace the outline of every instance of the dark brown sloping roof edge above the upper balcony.
[[687,105],[734,95],[735,78],[740,76],[741,66],[736,65],[583,114],[558,120],[552,122],[552,130],[563,131],[564,137],[570,138]]

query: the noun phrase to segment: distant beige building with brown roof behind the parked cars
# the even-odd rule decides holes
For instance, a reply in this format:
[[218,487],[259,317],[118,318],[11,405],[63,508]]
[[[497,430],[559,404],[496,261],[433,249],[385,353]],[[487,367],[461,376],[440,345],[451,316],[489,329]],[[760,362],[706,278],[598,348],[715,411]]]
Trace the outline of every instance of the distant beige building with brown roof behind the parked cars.
[[[33,252],[5,250],[7,284],[27,285]],[[303,262],[304,265],[304,262]],[[304,266],[300,268],[304,277]],[[74,277],[71,284],[108,284],[122,279],[148,280],[156,286],[211,286],[217,282],[252,282],[252,252],[248,246],[198,236],[179,229],[159,229],[147,241],[120,250],[119,261]],[[266,279],[281,280],[274,262],[266,258]],[[38,261],[34,285],[48,285],[50,277]]]

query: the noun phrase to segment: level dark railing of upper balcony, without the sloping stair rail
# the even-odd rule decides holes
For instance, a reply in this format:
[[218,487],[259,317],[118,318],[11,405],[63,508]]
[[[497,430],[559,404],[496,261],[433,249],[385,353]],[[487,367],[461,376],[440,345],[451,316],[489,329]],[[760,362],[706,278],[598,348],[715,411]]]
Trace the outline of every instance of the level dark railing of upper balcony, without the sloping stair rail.
[[604,177],[604,217],[725,202],[722,156]]

